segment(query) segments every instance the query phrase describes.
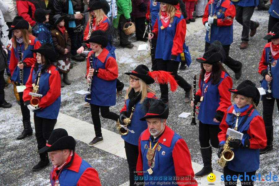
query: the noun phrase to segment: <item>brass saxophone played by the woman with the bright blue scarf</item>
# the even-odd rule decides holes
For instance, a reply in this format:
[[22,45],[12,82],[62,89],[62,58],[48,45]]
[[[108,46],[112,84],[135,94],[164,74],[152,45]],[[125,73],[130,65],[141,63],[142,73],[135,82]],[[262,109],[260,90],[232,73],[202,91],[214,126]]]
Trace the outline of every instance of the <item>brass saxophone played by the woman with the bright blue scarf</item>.
[[[236,118],[236,122],[235,122],[235,127],[233,130],[237,131],[237,125],[238,125],[238,118],[240,116],[240,112],[237,112],[237,118]],[[230,149],[230,146],[228,146],[228,142],[230,140],[232,140],[233,138],[231,136],[228,136],[225,144],[224,144],[224,149],[222,151],[222,153],[220,154],[220,158],[219,160],[217,161],[217,163],[222,167],[224,168],[228,161],[231,161],[234,157],[234,153],[233,151]]]

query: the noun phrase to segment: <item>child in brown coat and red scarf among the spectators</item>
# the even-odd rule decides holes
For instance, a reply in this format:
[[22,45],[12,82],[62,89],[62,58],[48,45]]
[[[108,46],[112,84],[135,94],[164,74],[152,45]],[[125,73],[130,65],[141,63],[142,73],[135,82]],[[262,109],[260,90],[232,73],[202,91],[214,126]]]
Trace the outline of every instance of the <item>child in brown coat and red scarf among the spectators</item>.
[[[53,45],[57,52],[58,60],[56,62],[56,67],[60,73],[61,87],[64,87],[63,82],[70,85],[71,82],[68,79],[68,73],[70,71],[70,50],[71,50],[71,39],[67,30],[64,27],[64,18],[66,15],[54,15],[53,22],[54,28],[51,31],[51,36],[53,40]],[[63,74],[63,79],[62,79]]]

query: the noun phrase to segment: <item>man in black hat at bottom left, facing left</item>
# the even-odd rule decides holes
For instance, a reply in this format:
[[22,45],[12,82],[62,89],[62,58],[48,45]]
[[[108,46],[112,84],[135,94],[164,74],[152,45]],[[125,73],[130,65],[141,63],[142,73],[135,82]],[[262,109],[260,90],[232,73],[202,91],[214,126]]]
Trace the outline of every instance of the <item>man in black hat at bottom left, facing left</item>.
[[76,142],[65,129],[52,131],[45,147],[38,153],[49,153],[53,165],[51,186],[94,185],[101,186],[98,172],[75,153]]

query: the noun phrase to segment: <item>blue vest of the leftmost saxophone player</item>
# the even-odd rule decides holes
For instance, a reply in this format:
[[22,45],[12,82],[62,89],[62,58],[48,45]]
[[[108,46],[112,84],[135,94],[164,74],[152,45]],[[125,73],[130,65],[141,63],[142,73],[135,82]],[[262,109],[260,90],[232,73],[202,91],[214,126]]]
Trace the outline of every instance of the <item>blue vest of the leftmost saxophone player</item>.
[[[57,69],[55,69],[55,71],[57,71]],[[41,78],[39,81],[39,94],[42,94],[43,96],[45,96],[49,90],[50,76],[51,74],[46,71],[41,74]],[[32,83],[35,83],[35,79],[37,79],[37,73],[33,69]],[[59,109],[60,109],[60,104],[61,104],[61,96],[59,96],[51,105],[43,108],[42,110],[33,110],[33,112],[36,113],[38,117],[47,118],[47,119],[57,119]]]

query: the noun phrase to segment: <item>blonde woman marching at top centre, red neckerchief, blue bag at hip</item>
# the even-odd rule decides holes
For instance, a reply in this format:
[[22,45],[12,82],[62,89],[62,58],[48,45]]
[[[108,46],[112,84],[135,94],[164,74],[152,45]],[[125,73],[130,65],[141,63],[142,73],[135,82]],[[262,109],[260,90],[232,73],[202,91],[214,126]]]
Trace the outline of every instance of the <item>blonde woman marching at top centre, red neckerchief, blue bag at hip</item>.
[[[154,0],[155,1],[155,0]],[[157,38],[155,59],[157,69],[171,72],[178,85],[184,89],[184,102],[190,101],[191,85],[177,74],[179,63],[182,61],[180,55],[184,55],[186,22],[181,12],[175,8],[178,0],[157,0],[160,2],[160,11],[153,26],[149,39]],[[168,85],[160,84],[161,99],[169,102]]]

